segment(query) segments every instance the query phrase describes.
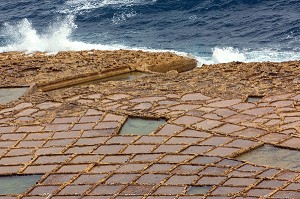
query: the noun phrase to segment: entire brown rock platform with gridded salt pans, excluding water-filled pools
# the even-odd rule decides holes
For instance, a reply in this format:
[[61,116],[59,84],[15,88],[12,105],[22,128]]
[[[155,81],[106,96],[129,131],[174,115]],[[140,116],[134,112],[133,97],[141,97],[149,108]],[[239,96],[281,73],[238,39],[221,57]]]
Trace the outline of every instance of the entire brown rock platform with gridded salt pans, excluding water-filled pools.
[[[0,105],[0,177],[42,175],[0,198],[300,197],[299,168],[238,158],[264,145],[300,152],[300,62],[195,68],[141,51],[0,58],[2,87],[32,88]],[[131,71],[147,76],[86,84]],[[166,123],[120,134],[131,117]]]

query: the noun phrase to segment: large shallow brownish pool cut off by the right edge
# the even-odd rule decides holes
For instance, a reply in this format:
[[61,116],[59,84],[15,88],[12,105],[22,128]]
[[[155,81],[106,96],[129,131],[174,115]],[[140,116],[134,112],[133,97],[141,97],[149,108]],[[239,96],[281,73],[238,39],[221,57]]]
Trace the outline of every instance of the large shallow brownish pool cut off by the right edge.
[[239,157],[258,165],[268,165],[300,171],[300,151],[263,145]]

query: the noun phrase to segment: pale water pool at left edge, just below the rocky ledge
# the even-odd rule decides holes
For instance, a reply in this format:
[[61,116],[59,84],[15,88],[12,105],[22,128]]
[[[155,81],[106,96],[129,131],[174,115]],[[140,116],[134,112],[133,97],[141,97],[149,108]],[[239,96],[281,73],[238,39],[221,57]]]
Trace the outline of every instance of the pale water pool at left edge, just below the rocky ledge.
[[29,87],[0,88],[0,103],[6,104],[19,99],[28,91]]

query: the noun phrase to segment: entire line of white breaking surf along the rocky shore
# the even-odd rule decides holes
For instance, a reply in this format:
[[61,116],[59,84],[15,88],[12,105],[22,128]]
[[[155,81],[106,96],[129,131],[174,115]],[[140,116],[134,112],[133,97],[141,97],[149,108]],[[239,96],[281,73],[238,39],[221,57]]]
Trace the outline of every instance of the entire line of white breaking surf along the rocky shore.
[[71,39],[73,31],[76,29],[74,16],[68,15],[47,27],[47,34],[39,34],[32,23],[23,19],[16,24],[5,24],[5,31],[2,37],[9,37],[10,44],[0,47],[0,52],[23,51],[33,53],[36,51],[57,53],[59,51],[79,51],[79,50],[143,50],[148,52],[173,52],[178,55],[191,56],[198,61],[198,65],[227,63],[232,61],[240,62],[263,62],[263,61],[289,61],[300,60],[299,49],[292,51],[282,51],[280,49],[238,49],[233,47],[214,47],[210,55],[203,56],[203,52],[180,52],[176,50],[151,49],[147,47],[132,47],[121,44],[102,45],[100,43],[87,43]]

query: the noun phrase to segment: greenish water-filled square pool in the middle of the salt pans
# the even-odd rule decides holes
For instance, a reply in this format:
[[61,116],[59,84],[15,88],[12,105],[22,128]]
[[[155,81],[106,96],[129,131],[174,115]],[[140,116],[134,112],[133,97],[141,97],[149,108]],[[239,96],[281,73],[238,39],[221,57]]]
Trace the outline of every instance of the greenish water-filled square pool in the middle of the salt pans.
[[166,123],[164,119],[128,118],[123,125],[121,135],[149,135]]

